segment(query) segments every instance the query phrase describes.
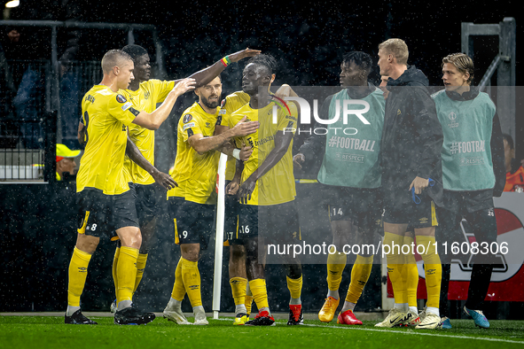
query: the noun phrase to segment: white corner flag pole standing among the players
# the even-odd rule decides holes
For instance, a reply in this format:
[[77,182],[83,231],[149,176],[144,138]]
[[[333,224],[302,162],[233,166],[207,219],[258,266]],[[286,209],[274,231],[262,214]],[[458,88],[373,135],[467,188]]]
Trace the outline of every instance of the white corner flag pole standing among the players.
[[225,163],[227,155],[220,154],[218,162],[218,202],[216,203],[215,274],[213,275],[213,318],[218,319],[222,290],[223,217],[225,213]]

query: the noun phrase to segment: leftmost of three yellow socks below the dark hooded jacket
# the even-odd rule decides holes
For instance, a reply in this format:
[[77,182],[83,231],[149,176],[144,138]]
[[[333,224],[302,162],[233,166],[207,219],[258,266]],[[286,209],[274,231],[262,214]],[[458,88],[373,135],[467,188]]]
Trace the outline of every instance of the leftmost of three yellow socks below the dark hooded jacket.
[[[384,232],[384,246],[389,246],[389,253],[387,254],[387,275],[391,280],[393,286],[393,292],[395,296],[395,303],[406,304],[408,303],[407,290],[403,284],[403,263],[404,258],[400,252],[402,248],[404,237],[388,232]],[[400,247],[397,247],[400,246]]]

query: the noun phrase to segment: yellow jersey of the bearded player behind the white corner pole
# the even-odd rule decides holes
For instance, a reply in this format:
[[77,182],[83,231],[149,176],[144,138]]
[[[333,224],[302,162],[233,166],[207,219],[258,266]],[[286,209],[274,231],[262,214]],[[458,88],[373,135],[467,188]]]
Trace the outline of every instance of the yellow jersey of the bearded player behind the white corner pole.
[[168,191],[168,198],[183,197],[198,204],[216,204],[216,172],[220,151],[207,151],[199,155],[187,140],[198,134],[213,136],[219,110],[217,107],[215,114],[209,114],[195,102],[180,117],[173,175],[178,187]]

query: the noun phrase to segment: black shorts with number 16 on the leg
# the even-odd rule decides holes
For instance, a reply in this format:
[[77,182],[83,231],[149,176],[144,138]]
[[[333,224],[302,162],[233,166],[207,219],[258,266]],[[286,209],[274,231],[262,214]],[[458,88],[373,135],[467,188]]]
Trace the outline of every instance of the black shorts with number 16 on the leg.
[[271,206],[240,205],[239,229],[231,241],[243,244],[246,238],[252,237],[262,237],[266,244],[301,240],[295,201]]

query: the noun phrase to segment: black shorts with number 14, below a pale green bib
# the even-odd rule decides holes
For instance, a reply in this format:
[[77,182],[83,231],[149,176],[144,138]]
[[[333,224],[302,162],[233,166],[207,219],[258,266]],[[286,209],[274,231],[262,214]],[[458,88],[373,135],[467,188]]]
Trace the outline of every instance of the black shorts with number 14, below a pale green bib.
[[356,189],[330,186],[330,221],[351,221],[359,228],[381,227],[382,199],[379,189]]

